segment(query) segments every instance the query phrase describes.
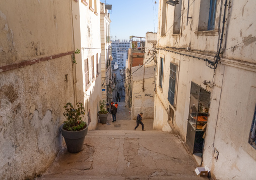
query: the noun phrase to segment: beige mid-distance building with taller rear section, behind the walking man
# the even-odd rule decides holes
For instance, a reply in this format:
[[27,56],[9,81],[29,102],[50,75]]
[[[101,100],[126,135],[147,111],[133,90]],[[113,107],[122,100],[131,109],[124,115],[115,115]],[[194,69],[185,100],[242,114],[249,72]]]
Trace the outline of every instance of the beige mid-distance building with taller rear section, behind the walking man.
[[146,33],[144,66],[132,67],[132,119],[136,119],[140,112],[143,112],[143,119],[154,118],[156,40],[157,33]]

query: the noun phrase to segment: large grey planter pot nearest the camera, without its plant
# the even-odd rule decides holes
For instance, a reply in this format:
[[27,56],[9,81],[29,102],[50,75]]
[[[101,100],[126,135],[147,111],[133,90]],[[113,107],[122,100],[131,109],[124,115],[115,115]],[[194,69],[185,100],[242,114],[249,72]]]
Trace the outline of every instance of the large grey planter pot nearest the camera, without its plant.
[[78,153],[83,149],[85,136],[88,131],[88,124],[86,122],[86,128],[81,131],[67,131],[63,129],[62,124],[60,126],[61,134],[65,139],[68,151],[70,153]]

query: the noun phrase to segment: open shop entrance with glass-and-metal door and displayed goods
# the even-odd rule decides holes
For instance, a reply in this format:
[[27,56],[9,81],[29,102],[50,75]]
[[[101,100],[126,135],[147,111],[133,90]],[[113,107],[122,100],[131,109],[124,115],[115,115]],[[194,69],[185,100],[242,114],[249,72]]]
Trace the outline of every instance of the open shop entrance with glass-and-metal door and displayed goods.
[[191,82],[186,143],[191,153],[203,153],[204,133],[210,107],[210,92]]

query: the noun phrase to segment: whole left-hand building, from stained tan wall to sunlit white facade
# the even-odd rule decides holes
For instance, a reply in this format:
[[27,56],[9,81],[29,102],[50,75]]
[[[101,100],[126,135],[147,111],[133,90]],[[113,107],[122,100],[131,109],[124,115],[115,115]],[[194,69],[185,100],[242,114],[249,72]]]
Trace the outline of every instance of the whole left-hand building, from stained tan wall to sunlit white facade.
[[99,11],[99,0],[0,2],[0,179],[32,179],[49,167],[66,103],[82,102],[95,129]]

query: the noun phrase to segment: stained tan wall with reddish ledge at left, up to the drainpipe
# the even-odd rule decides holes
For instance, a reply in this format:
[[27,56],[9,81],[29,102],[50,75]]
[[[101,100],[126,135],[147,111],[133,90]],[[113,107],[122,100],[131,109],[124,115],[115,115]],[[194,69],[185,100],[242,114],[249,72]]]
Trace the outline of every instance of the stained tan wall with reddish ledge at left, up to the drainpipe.
[[33,178],[61,146],[63,105],[74,103],[70,10],[69,1],[0,2],[0,67],[18,67],[0,72],[1,179]]

